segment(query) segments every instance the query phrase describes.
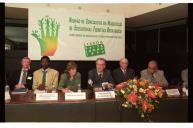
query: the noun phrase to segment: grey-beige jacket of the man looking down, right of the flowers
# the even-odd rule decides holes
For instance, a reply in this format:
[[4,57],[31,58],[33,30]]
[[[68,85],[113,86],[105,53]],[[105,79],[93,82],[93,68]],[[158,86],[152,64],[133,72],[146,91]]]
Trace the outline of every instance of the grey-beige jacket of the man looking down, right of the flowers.
[[[142,70],[141,72],[141,78],[142,79],[146,79],[146,80],[150,80],[152,79],[152,75],[148,72],[147,69]],[[161,86],[163,87],[167,87],[168,86],[168,81],[166,80],[165,76],[164,76],[164,71],[162,70],[157,70],[154,73],[154,79],[156,80],[156,82],[158,82]]]

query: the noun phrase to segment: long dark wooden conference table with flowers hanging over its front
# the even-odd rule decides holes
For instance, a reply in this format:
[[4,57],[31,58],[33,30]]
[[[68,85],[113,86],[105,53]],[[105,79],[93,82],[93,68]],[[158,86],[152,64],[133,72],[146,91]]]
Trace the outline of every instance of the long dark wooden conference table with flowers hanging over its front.
[[136,110],[121,107],[118,99],[65,101],[58,92],[57,101],[36,101],[35,94],[11,95],[5,104],[6,122],[188,122],[188,97],[164,96],[158,109],[145,120]]

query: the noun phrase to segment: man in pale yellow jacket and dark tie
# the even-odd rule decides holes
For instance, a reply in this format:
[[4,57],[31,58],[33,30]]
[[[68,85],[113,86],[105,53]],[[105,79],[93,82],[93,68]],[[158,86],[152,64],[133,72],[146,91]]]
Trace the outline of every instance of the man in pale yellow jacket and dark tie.
[[50,68],[50,58],[43,56],[41,58],[41,68],[33,73],[33,90],[51,91],[58,86],[58,71]]

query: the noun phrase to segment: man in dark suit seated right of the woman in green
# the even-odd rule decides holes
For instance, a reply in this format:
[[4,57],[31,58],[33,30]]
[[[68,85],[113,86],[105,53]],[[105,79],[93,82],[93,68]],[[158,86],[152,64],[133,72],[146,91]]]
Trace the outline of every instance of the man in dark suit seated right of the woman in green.
[[96,68],[88,72],[88,79],[92,80],[94,87],[102,87],[104,82],[108,82],[111,85],[114,84],[111,72],[108,69],[105,69],[105,67],[106,60],[104,58],[98,58],[96,60]]

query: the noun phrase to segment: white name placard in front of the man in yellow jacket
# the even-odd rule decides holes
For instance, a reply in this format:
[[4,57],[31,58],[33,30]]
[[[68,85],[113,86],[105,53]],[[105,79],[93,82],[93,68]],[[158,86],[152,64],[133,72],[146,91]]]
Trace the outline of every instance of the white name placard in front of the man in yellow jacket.
[[37,93],[36,101],[55,101],[58,100],[58,93]]

